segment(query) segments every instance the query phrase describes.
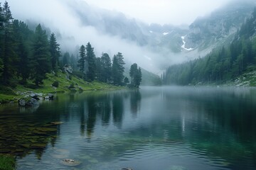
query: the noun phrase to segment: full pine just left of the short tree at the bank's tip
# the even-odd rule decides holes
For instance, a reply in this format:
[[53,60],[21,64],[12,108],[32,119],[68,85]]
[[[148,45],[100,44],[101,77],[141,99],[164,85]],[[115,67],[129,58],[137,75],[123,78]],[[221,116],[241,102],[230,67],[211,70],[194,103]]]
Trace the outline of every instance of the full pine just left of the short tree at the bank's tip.
[[114,85],[122,85],[122,80],[124,79],[124,60],[121,52],[113,57],[112,64],[112,79]]

